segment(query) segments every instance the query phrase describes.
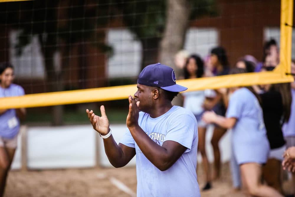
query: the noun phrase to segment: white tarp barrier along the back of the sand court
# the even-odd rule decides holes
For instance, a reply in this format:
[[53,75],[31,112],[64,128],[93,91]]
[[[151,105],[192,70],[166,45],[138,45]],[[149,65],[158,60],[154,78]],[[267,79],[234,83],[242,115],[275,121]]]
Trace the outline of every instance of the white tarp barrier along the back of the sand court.
[[[120,142],[126,131],[124,124],[111,125],[113,137]],[[209,126],[206,132],[206,151],[210,162],[213,161],[211,146],[213,126]],[[227,132],[221,139],[222,162],[230,159],[230,136]],[[52,169],[69,167],[94,167],[96,165],[96,132],[91,125],[77,126],[40,126],[27,127],[27,167],[30,169]],[[21,136],[19,135],[18,148],[12,163],[12,169],[21,167]],[[108,158],[104,152],[102,139],[98,144],[99,165],[110,167]],[[200,155],[198,161],[201,161]],[[135,157],[128,164],[135,165]]]

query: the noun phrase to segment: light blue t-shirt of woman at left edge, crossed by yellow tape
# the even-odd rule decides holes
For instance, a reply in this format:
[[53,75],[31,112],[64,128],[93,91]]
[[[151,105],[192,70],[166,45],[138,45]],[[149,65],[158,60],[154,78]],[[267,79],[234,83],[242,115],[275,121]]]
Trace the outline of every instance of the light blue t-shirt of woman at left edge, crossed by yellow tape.
[[[8,88],[0,87],[1,97],[14,97],[24,95],[24,89],[16,84],[11,84]],[[0,136],[11,139],[19,132],[19,118],[15,109],[9,109],[0,115]]]

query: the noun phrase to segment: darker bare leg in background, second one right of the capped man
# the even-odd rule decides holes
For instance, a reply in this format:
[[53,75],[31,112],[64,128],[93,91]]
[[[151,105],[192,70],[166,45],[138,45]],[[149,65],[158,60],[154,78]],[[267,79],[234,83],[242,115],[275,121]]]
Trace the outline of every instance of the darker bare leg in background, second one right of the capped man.
[[211,144],[212,144],[213,152],[214,152],[213,180],[219,179],[220,177],[220,150],[219,150],[218,143],[226,131],[227,131],[226,129],[221,127],[215,127],[213,131],[213,136],[211,139]]

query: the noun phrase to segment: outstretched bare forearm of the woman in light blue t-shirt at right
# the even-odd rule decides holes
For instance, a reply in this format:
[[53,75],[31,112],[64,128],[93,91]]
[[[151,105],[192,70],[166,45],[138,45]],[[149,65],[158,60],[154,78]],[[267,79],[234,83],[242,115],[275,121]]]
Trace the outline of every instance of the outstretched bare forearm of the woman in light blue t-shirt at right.
[[208,111],[203,114],[202,119],[206,123],[215,123],[223,128],[232,128],[235,126],[235,123],[237,122],[236,118],[225,118],[221,115],[216,115],[213,111]]

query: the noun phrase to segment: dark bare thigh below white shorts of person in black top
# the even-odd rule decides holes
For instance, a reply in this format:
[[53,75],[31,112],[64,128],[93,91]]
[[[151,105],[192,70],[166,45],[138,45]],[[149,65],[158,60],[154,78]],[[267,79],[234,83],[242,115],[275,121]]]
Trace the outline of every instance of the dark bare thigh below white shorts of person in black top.
[[262,169],[263,179],[266,183],[278,192],[283,193],[281,183],[281,161],[274,158],[268,159],[266,165],[264,165]]

